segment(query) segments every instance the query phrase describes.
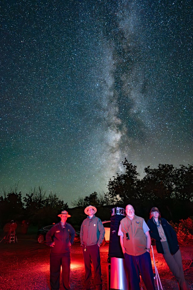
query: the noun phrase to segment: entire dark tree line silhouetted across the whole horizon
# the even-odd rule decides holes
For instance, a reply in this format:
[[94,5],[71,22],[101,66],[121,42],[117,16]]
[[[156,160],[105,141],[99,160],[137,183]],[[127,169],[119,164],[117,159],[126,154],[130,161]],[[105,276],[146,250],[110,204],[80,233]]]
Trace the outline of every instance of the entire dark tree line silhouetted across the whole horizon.
[[[152,206],[158,206],[164,217],[171,220],[187,218],[193,212],[193,166],[180,165],[174,168],[170,164],[159,164],[158,168],[145,167],[145,176],[140,179],[137,166],[122,162],[124,172],[117,173],[107,184],[107,192],[93,192],[86,197],[71,201],[73,208],[82,209],[88,205],[108,209],[101,211],[104,219],[110,218],[109,209],[115,206],[125,207],[130,203],[136,207],[136,214],[148,217]],[[73,208],[71,211],[73,211]],[[49,224],[56,220],[58,213],[69,209],[56,194],[48,195],[43,186],[34,187],[22,197],[18,193],[18,184],[3,189],[0,196],[1,227],[12,219],[29,219],[37,225]],[[79,218],[79,217],[77,217]],[[82,218],[80,214],[80,219]]]

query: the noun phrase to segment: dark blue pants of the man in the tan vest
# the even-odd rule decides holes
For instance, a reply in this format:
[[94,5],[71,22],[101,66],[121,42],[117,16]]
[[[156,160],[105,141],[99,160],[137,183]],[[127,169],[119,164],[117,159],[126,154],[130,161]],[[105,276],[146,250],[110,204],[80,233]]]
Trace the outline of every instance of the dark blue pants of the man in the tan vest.
[[130,289],[140,290],[140,275],[147,290],[155,290],[150,253],[139,256],[124,254]]

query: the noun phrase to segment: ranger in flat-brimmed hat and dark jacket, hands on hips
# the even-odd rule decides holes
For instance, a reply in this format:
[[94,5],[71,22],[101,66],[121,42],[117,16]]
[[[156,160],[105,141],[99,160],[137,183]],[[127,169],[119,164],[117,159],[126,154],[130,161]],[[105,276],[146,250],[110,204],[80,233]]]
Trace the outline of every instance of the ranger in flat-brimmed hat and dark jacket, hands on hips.
[[62,266],[62,290],[70,290],[70,246],[74,243],[75,229],[67,223],[71,217],[67,211],[58,214],[61,221],[46,234],[46,244],[50,246],[50,286],[51,290],[60,288],[60,271]]

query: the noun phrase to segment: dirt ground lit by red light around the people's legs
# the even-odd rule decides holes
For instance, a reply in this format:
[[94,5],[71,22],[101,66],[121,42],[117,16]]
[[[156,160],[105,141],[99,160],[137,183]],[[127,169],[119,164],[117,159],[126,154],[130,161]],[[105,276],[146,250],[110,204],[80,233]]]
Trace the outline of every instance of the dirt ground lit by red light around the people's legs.
[[[3,233],[0,240],[2,238]],[[50,250],[45,244],[38,244],[35,238],[35,235],[20,235],[17,236],[17,243],[4,244],[4,241],[0,243],[0,290],[50,290]],[[185,278],[190,289],[193,290],[193,246],[181,246],[180,249]],[[72,246],[71,253],[71,290],[81,290],[83,289],[84,264],[79,243]],[[107,290],[108,244],[100,248],[100,255],[103,290]],[[175,278],[162,255],[156,253],[155,247],[154,258],[163,290],[178,290]],[[93,280],[91,289],[95,289]],[[157,285],[156,289],[158,289]]]

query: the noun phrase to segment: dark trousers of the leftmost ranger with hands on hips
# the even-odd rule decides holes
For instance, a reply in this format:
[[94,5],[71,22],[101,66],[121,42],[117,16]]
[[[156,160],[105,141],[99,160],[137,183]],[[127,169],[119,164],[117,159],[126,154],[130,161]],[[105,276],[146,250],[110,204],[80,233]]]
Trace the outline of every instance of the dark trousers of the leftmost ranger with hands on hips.
[[60,269],[62,266],[62,290],[70,290],[70,253],[50,253],[50,286],[51,290],[60,288]]

